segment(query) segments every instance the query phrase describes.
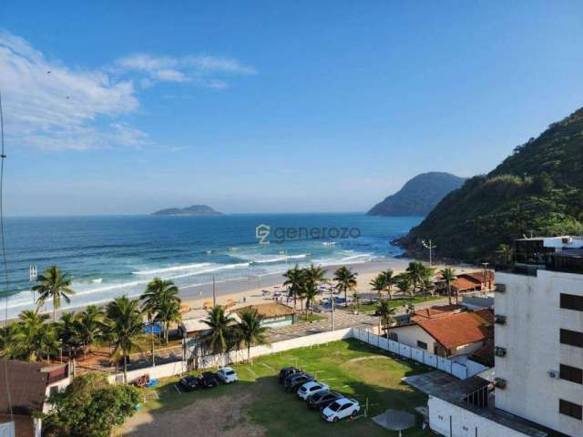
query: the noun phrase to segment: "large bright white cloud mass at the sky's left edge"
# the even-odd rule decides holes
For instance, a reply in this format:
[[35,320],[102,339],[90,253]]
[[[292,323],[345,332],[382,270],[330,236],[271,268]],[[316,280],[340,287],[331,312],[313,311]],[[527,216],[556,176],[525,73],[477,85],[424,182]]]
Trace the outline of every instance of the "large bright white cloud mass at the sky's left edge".
[[[97,129],[103,117],[138,107],[133,83],[101,71],[73,69],[46,59],[24,39],[0,31],[0,89],[5,132],[17,144],[48,149],[124,145],[118,128]],[[132,139],[133,145],[136,139]]]

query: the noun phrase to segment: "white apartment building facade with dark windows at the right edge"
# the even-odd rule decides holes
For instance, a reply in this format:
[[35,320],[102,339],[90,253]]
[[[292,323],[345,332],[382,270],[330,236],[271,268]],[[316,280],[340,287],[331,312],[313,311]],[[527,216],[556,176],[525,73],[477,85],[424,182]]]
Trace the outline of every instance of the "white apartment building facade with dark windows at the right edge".
[[583,274],[497,272],[496,282],[496,408],[583,436]]

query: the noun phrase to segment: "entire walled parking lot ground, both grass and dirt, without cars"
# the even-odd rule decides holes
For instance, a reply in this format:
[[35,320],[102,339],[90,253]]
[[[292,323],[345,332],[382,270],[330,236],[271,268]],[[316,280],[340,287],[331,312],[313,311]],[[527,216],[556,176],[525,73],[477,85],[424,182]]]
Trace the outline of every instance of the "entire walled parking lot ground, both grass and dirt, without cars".
[[[321,413],[308,410],[297,394],[282,390],[278,373],[295,366],[308,371],[331,390],[358,401],[362,407],[353,421],[324,422]],[[426,404],[425,395],[402,378],[427,371],[413,362],[400,362],[357,340],[285,351],[250,364],[235,365],[240,381],[190,392],[179,391],[178,378],[161,381],[144,391],[145,403],[131,418],[123,435],[156,436],[168,432],[209,436],[262,435],[397,435],[373,422],[373,416],[393,409],[414,412],[417,425],[404,436],[430,435],[414,408]],[[368,404],[367,417],[363,416]]]

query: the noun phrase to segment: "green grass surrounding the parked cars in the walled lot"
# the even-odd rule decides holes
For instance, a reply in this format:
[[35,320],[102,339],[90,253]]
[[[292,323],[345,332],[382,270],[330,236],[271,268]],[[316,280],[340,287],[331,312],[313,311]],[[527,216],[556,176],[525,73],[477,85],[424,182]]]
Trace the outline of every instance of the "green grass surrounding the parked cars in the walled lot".
[[[369,403],[368,417],[355,422],[323,422],[319,412],[309,411],[304,401],[295,393],[286,393],[278,383],[281,367],[296,366],[315,374],[319,381],[328,383],[332,390],[340,391],[360,401]],[[243,422],[259,426],[261,433],[277,436],[326,435],[397,435],[372,421],[372,417],[392,408],[414,412],[414,407],[426,405],[423,393],[415,391],[402,380],[404,376],[428,371],[423,365],[394,361],[384,351],[368,346],[358,340],[342,340],[326,345],[302,348],[261,357],[252,365],[232,366],[240,381],[231,385],[220,385],[207,391],[179,393],[174,384],[178,378],[161,381],[156,394],[149,393],[141,414],[152,413],[167,417],[164,412],[178,410],[188,414],[188,409],[202,408],[202,403],[231,401],[242,411]],[[241,400],[238,402],[237,400]],[[192,410],[191,410],[192,411]],[[364,411],[362,408],[361,412]],[[229,416],[217,420],[229,421]],[[422,418],[417,417],[420,424]],[[237,427],[238,423],[225,423],[225,427]],[[197,432],[204,434],[204,429]],[[420,426],[407,430],[404,436],[431,435]]]

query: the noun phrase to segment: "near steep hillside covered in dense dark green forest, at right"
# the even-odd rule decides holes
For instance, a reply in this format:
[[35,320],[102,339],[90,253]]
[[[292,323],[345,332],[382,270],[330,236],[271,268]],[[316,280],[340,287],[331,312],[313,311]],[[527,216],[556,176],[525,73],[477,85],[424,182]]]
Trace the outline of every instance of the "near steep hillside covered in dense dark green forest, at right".
[[559,234],[583,234],[583,108],[466,180],[399,243],[420,255],[433,239],[439,257],[481,261],[523,235]]

